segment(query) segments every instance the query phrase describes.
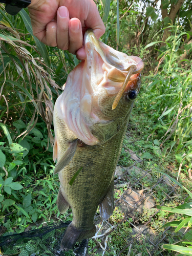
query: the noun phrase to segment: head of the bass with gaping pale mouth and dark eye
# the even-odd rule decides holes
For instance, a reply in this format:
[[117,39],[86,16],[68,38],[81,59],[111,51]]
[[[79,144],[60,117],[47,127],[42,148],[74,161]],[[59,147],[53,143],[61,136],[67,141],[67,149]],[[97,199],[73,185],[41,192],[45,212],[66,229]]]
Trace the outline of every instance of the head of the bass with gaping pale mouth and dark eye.
[[143,61],[84,35],[87,58],[69,74],[61,111],[70,131],[88,145],[105,143],[129,121],[140,90]]

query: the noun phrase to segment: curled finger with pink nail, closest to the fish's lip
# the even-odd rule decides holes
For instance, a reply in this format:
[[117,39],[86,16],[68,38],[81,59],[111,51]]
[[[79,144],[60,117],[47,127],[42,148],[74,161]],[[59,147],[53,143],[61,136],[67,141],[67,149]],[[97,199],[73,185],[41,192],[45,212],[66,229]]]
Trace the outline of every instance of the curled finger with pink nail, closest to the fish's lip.
[[72,18],[69,22],[69,49],[75,54],[82,47],[82,28],[78,18]]

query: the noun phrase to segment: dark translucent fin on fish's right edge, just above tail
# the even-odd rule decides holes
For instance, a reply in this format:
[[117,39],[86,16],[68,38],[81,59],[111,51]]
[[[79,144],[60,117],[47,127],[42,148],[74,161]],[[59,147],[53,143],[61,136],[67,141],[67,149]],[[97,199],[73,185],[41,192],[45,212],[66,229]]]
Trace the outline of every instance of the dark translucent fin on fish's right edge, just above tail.
[[112,181],[108,193],[106,193],[106,196],[102,200],[102,202],[99,205],[101,218],[103,220],[108,220],[109,217],[113,214],[114,209],[114,181]]

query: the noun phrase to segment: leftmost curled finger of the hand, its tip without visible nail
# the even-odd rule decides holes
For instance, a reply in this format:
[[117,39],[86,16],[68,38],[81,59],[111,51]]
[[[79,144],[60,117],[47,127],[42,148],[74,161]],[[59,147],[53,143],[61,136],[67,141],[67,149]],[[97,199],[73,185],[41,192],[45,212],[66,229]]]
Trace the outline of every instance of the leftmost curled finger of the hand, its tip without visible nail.
[[[53,46],[53,47],[57,46],[56,32],[57,32],[57,23],[56,22],[48,23],[46,26],[46,31],[39,32],[41,33],[41,36],[42,36],[41,42],[43,42],[47,46]],[[38,33],[35,34],[35,36],[38,38]]]

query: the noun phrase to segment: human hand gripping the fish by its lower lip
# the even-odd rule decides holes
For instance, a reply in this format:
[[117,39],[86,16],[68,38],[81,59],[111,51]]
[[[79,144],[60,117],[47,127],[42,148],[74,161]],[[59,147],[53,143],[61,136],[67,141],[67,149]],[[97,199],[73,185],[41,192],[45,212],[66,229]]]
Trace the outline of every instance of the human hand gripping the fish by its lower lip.
[[33,34],[48,46],[57,46],[86,58],[83,35],[92,28],[97,39],[105,32],[93,0],[32,0],[28,6]]

